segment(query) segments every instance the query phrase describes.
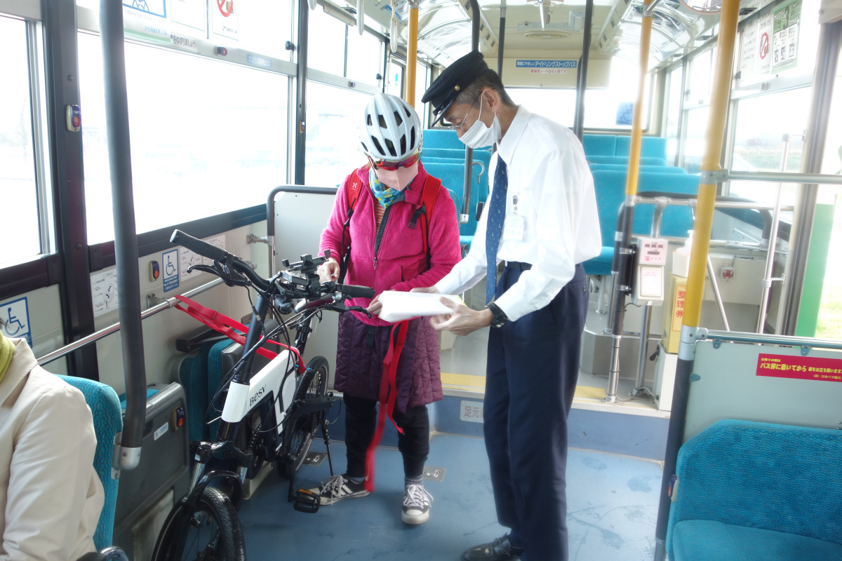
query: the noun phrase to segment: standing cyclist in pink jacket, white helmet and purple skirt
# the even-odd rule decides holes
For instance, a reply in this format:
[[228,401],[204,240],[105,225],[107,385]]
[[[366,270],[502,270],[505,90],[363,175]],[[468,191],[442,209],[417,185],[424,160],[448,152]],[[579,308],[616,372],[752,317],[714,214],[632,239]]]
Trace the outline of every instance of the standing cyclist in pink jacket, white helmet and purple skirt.
[[[322,281],[337,280],[339,263],[347,256],[344,282],[373,287],[376,294],[374,299],[350,302],[365,307],[372,317],[359,312],[339,316],[334,388],[344,394],[348,468],[312,490],[322,505],[369,493],[365,453],[375,433],[383,358],[392,332],[392,324],[377,317],[381,292],[432,286],[461,258],[456,205],[418,161],[421,136],[420,120],[408,103],[383,93],[371,98],[360,122],[360,143],[368,161],[339,187],[322,232],[319,251],[331,255],[320,269]],[[433,199],[424,198],[434,200],[429,216],[428,205],[422,204],[428,182],[434,183],[428,185],[428,193],[437,191]],[[402,521],[420,524],[429,518],[432,501],[422,474],[429,453],[426,405],[442,398],[439,340],[424,318],[409,320],[406,334],[397,363],[393,418],[403,430],[398,435],[405,476]]]

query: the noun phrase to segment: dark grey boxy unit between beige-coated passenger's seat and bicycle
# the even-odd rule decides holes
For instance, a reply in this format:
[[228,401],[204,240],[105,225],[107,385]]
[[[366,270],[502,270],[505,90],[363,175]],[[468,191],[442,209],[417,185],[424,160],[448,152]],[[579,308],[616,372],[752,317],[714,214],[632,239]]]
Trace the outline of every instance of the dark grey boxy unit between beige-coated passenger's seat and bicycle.
[[147,392],[141,461],[136,468],[120,472],[117,490],[114,543],[130,559],[152,557],[154,540],[173,501],[187,493],[190,474],[186,415],[181,384],[163,385]]

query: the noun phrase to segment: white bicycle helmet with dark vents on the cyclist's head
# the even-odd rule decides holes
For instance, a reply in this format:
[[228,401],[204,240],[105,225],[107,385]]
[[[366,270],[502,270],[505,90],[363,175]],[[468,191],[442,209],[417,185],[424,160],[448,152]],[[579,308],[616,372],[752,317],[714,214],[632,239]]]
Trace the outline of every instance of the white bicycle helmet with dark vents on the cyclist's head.
[[372,160],[405,160],[421,150],[421,119],[401,98],[378,93],[365,106],[360,143]]

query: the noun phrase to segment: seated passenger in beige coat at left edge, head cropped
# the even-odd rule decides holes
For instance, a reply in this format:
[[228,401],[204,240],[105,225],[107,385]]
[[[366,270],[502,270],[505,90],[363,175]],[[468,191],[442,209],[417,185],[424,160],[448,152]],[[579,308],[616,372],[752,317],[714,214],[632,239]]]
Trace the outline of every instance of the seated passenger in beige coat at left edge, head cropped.
[[82,392],[0,331],[0,561],[75,561],[95,551],[104,492]]

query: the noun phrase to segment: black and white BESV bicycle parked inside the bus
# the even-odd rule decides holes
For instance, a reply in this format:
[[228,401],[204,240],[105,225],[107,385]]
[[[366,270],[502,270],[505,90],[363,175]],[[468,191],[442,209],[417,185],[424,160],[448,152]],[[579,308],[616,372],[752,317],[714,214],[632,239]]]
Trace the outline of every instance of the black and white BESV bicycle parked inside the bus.
[[[301,353],[312,331],[312,320],[320,319],[322,310],[365,312],[360,306],[346,306],[343,302],[354,297],[371,298],[374,290],[320,283],[317,267],[329,255],[305,255],[295,263],[284,260],[285,271],[266,279],[239,257],[180,230],[173,232],[170,241],[213,261],[213,265],[195,265],[189,270],[215,274],[231,287],[254,288],[258,299],[252,307],[242,356],[216,390],[217,396],[227,390],[216,441],[200,442],[196,447],[189,491],[164,522],[152,559],[240,561],[245,559],[245,542],[237,517],[242,485],[265,462],[274,462],[280,472],[289,476],[288,499],[295,501],[296,510],[318,510],[316,495],[307,490],[293,493],[295,477],[319,426],[333,475],[327,412],[338,398],[327,393],[328,360],[313,357],[305,367]],[[278,326],[267,331],[269,314]],[[293,315],[284,320],[290,314]],[[292,343],[290,329],[296,331]],[[285,344],[281,344],[285,349],[264,368],[252,372],[254,357],[264,343],[281,337],[285,339]],[[215,402],[216,399],[211,400]]]

